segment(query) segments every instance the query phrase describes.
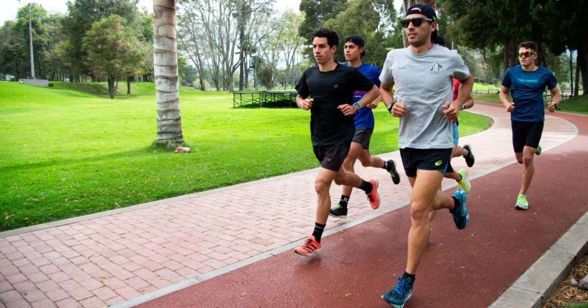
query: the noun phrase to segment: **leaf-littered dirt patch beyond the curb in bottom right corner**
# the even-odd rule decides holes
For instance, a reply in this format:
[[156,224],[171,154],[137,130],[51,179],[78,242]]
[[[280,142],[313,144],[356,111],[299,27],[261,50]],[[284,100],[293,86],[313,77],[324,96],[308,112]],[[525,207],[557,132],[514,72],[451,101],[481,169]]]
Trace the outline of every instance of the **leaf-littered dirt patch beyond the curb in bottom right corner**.
[[[567,275],[566,279],[564,279],[563,282],[557,286],[556,292],[553,293],[549,299],[547,299],[545,304],[543,304],[543,308],[562,307],[567,306],[568,304],[588,303],[588,291],[579,289],[578,286],[574,286],[570,283],[572,277],[574,277],[574,279],[579,282],[580,279],[586,276],[586,274],[588,274],[588,254],[584,255],[582,260],[580,260],[580,262],[574,266],[572,272]],[[582,305],[582,307],[584,306]]]

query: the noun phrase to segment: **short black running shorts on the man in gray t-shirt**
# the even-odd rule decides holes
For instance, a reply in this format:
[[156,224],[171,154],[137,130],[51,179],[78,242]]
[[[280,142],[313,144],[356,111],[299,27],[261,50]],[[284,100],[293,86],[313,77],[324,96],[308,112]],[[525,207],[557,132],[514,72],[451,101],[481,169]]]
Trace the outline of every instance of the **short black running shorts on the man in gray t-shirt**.
[[443,174],[451,159],[453,148],[401,148],[400,157],[407,177],[416,177],[417,170],[437,170]]

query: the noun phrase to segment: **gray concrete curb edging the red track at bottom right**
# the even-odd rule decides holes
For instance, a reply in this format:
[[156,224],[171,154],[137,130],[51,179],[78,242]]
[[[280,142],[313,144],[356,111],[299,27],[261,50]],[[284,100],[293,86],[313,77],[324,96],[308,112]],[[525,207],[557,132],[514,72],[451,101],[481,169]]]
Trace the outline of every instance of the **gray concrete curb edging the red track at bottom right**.
[[588,212],[584,213],[489,307],[542,307],[586,251]]

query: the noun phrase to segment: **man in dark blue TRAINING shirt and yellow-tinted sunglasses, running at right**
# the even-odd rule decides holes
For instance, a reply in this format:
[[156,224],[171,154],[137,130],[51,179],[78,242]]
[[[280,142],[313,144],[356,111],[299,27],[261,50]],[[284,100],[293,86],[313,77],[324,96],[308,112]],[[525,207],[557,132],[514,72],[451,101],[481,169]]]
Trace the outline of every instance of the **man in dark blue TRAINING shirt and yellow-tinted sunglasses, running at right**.
[[[541,154],[539,140],[543,133],[545,86],[552,93],[552,101],[547,103],[549,112],[556,109],[562,96],[557,90],[557,80],[553,73],[543,66],[535,64],[537,60],[537,45],[534,42],[524,42],[519,45],[519,66],[506,70],[500,89],[500,101],[510,112],[513,131],[513,148],[519,164],[523,164],[523,179],[520,184],[519,196],[515,204],[516,209],[529,208],[527,189],[533,180],[535,167],[534,155]],[[513,102],[506,93],[510,90]]]

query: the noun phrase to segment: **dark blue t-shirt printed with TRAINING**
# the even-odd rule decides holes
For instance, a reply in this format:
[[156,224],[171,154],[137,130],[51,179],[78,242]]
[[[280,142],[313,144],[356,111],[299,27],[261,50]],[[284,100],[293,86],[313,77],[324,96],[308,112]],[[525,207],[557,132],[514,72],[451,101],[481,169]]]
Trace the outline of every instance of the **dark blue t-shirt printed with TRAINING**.
[[510,120],[536,122],[544,121],[543,91],[557,86],[553,73],[543,66],[533,72],[526,72],[520,65],[506,70],[502,85],[510,88],[515,110]]

